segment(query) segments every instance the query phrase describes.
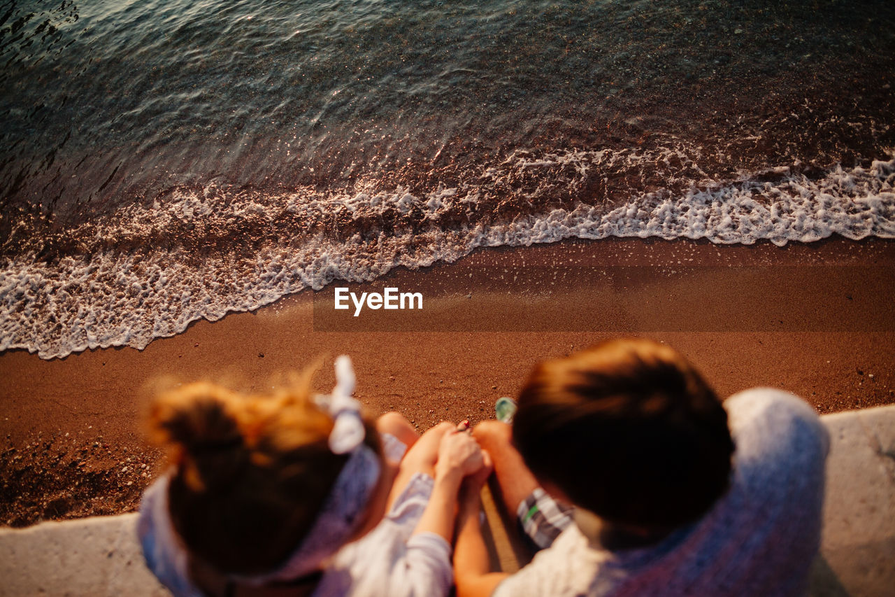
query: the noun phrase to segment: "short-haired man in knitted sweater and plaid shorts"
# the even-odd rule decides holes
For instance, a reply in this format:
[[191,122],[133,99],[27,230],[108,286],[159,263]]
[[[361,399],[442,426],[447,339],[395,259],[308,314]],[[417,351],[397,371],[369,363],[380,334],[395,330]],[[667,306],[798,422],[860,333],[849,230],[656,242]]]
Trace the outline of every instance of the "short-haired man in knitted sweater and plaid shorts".
[[489,573],[465,491],[459,597],[804,593],[820,543],[829,439],[770,388],[723,404],[676,351],[605,342],[537,365],[512,428],[487,421],[506,506],[542,549]]

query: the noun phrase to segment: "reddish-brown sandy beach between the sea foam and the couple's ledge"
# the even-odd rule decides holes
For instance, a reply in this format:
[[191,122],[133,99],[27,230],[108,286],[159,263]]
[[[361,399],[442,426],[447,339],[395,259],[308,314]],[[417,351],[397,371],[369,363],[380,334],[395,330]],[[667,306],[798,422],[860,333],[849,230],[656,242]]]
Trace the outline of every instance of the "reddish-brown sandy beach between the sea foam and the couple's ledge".
[[895,402],[895,241],[715,246],[617,239],[496,248],[352,291],[421,292],[422,311],[333,309],[333,288],[192,324],[145,350],[0,355],[0,524],[134,508],[161,467],[145,388],[212,378],[261,391],[347,353],[357,396],[420,428],[489,418],[531,365],[619,334],[669,342],[722,396],[754,385],[821,412]]

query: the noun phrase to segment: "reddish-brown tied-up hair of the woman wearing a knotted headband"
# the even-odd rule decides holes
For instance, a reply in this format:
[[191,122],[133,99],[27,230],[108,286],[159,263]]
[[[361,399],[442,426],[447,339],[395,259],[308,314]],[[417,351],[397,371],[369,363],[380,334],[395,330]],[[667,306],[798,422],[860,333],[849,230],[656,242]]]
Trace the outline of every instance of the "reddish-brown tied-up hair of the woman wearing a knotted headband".
[[[168,509],[191,556],[219,572],[260,574],[310,531],[347,456],[312,402],[310,374],[279,394],[243,396],[206,382],[158,395],[151,435],[170,450]],[[379,453],[375,428],[366,443]]]

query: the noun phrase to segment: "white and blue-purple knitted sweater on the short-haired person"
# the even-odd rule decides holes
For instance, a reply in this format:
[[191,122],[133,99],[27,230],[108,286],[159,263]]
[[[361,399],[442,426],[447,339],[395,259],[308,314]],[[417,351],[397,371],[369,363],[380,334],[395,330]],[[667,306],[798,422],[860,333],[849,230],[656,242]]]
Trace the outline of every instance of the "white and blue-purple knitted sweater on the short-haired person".
[[494,596],[804,594],[820,545],[826,429],[780,390],[749,390],[724,407],[737,445],[730,489],[701,520],[615,551],[570,524]]

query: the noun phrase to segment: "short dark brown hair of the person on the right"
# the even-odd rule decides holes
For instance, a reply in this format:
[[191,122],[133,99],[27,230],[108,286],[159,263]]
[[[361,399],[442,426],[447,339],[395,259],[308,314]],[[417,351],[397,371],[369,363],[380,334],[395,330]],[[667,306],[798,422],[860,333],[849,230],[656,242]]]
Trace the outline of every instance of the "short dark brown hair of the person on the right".
[[675,350],[604,342],[541,362],[519,396],[516,447],[534,475],[613,523],[665,530],[727,489],[727,413]]

